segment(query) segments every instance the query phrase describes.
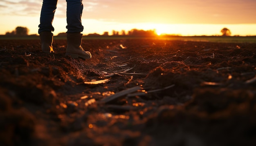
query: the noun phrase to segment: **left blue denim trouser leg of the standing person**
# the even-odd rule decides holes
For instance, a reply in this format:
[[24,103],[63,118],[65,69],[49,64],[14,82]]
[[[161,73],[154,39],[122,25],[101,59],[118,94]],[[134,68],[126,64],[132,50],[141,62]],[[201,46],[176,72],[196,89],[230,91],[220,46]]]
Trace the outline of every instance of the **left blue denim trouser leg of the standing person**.
[[40,34],[43,31],[54,31],[52,26],[52,21],[54,18],[54,13],[57,8],[58,0],[43,0],[43,5],[40,15],[40,24],[38,25],[38,33]]

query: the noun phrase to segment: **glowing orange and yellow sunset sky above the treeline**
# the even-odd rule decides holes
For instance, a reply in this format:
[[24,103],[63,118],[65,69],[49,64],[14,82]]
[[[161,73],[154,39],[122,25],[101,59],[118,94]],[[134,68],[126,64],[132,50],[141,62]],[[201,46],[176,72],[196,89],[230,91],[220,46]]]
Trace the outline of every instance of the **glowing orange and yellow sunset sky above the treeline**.
[[[82,33],[156,29],[179,35],[256,35],[256,0],[83,0]],[[38,31],[42,0],[1,0],[0,34],[27,27]],[[66,1],[58,0],[54,35],[67,31]]]

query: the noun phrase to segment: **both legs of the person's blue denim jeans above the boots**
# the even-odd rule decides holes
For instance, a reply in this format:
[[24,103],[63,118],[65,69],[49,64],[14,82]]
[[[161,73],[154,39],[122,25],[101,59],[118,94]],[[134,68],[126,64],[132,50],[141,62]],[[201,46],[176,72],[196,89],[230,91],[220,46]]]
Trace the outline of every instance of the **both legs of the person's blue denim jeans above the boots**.
[[[40,15],[38,33],[43,31],[54,31],[52,21],[58,0],[43,0]],[[82,0],[66,0],[67,2],[67,33],[78,33],[83,31],[81,16],[83,12]]]

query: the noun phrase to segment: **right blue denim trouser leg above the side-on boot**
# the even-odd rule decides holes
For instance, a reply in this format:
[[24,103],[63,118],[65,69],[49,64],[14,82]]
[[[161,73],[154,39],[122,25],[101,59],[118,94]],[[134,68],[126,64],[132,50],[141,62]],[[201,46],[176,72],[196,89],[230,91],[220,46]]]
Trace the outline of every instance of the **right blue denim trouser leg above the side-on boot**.
[[67,2],[67,33],[83,31],[81,22],[83,3],[82,0],[66,0]]

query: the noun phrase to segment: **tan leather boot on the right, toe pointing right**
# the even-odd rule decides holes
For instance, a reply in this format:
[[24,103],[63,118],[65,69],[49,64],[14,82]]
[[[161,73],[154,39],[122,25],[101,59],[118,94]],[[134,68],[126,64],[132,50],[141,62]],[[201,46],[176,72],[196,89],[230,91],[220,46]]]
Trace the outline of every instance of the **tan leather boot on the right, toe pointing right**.
[[67,49],[66,56],[70,55],[72,58],[83,58],[89,59],[92,58],[92,55],[89,51],[84,51],[82,44],[81,33],[67,33]]

